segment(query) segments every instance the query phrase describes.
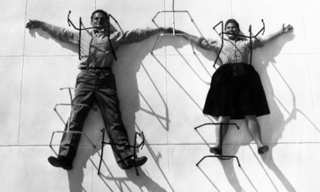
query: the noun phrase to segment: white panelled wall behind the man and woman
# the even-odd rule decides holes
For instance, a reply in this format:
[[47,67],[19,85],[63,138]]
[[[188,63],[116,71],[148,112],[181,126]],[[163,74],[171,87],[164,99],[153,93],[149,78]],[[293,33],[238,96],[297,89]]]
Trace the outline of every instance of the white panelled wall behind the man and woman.
[[[214,145],[214,127],[195,131],[205,122],[202,114],[215,54],[180,37],[161,38],[150,54],[157,35],[120,47],[113,71],[122,117],[133,141],[134,131],[145,134],[146,146],[138,155],[149,161],[139,168],[121,170],[106,146],[102,175],[97,175],[104,127],[100,111],[90,111],[83,131],[98,146],[81,139],[74,169],[54,168],[47,157],[55,155],[63,123],[54,113],[56,103],[69,102],[67,90],[79,73],[77,47],[52,39],[45,31],[25,29],[29,19],[67,25],[67,13],[90,25],[90,14],[104,9],[118,20],[123,31],[156,27],[159,10],[172,10],[172,0],[1,0],[0,1],[0,191],[319,191],[320,30],[316,0],[176,0],[175,27],[193,35],[218,38],[212,27],[229,18],[265,34],[283,23],[294,33],[254,52],[253,65],[262,78],[271,115],[259,118],[262,140],[271,147],[264,155],[250,137],[243,120],[230,129],[225,154],[235,159],[208,158]],[[173,26],[171,13],[160,13],[158,26]],[[115,27],[119,27],[115,24]],[[95,107],[97,105],[95,104]],[[58,111],[67,117],[68,109]]]

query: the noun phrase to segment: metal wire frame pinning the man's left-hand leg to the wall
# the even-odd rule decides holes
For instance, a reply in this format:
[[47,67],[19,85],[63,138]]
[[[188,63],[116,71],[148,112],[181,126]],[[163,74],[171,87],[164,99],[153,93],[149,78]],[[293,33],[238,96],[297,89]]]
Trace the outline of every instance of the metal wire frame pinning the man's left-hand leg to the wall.
[[[91,145],[93,145],[93,147],[95,148],[96,145],[93,144],[92,141],[90,141],[90,138],[88,138],[88,136],[86,136],[86,134],[84,134],[82,131],[70,131],[70,118],[71,118],[71,114],[72,114],[72,106],[86,106],[86,107],[89,107],[90,109],[93,109],[94,111],[97,111],[97,109],[94,109],[93,107],[91,106],[88,106],[87,104],[72,104],[72,94],[71,94],[71,89],[74,89],[75,88],[61,88],[60,90],[64,90],[64,89],[68,89],[69,90],[69,94],[70,94],[70,104],[56,104],[56,106],[54,107],[54,111],[56,112],[56,114],[58,115],[58,117],[62,120],[63,124],[64,125],[67,125],[67,131],[53,131],[52,132],[52,136],[51,136],[51,140],[50,140],[50,144],[49,144],[49,147],[52,146],[52,140],[54,138],[54,134],[56,133],[66,133],[66,134],[83,134],[83,136],[85,136],[85,138],[90,142]],[[58,113],[58,111],[56,110],[57,106],[70,106],[70,113],[69,113],[69,117],[67,118],[67,122],[65,122],[63,120],[63,118],[61,117],[61,115]]]

